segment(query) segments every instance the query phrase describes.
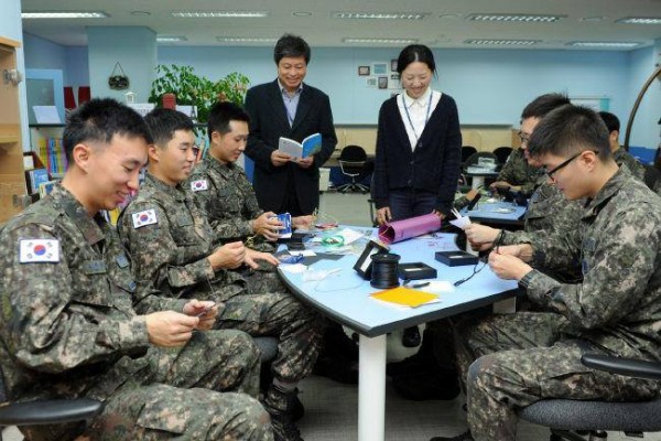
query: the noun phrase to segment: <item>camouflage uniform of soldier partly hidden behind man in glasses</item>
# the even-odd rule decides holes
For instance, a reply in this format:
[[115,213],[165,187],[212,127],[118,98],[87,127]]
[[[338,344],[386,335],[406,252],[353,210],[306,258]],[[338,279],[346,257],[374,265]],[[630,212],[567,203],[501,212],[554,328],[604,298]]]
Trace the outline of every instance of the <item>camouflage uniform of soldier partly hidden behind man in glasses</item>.
[[[567,201],[562,192],[546,182],[546,176],[538,179],[532,196],[528,201],[523,230],[503,230],[501,245],[532,244],[535,240],[548,240],[551,236],[563,236],[568,230],[578,228],[585,201]],[[562,261],[560,265],[549,262],[544,267],[535,267],[553,279],[564,282],[581,280],[579,259]]]

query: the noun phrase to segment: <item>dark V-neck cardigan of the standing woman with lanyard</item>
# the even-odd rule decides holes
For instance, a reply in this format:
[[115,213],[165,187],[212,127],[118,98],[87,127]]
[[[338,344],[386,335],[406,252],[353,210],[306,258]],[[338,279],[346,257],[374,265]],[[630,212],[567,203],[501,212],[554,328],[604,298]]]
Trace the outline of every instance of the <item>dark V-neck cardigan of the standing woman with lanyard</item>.
[[[389,206],[391,190],[414,189],[437,194],[436,209],[447,213],[454,201],[462,161],[462,132],[455,100],[446,94],[430,116],[411,151],[399,95],[379,111],[372,197],[377,208]],[[401,99],[401,98],[399,98]]]

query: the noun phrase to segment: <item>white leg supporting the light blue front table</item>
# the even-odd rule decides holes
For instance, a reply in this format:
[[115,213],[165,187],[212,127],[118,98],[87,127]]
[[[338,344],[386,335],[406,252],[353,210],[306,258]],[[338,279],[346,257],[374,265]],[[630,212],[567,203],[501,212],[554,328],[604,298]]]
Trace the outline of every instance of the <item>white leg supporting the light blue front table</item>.
[[358,441],[383,441],[386,423],[386,335],[360,335]]

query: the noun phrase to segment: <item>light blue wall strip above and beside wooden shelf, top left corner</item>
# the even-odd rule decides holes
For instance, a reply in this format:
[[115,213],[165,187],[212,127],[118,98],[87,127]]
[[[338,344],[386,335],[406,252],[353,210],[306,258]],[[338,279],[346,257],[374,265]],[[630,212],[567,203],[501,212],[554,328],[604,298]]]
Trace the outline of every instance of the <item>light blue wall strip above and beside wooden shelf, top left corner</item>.
[[[23,26],[21,24],[21,0],[3,0],[2,13],[0,13],[0,35],[18,42],[23,41]],[[19,72],[25,73],[24,49],[17,50],[17,67]],[[25,82],[19,85],[19,100],[21,105],[21,140],[23,150],[30,150],[30,132],[28,130],[28,98],[25,95]]]

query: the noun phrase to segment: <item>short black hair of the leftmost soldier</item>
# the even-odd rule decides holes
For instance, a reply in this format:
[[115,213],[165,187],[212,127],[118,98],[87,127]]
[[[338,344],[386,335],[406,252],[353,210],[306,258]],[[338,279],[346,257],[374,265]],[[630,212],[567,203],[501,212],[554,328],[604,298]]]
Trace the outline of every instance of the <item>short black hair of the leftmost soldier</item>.
[[62,143],[68,163],[73,163],[74,147],[85,142],[110,143],[113,136],[140,137],[148,143],[151,135],[136,110],[112,98],[94,98],[74,110],[67,118]]

